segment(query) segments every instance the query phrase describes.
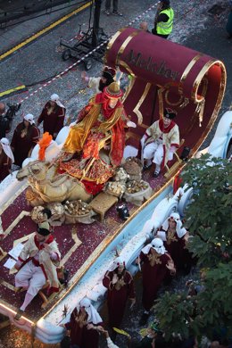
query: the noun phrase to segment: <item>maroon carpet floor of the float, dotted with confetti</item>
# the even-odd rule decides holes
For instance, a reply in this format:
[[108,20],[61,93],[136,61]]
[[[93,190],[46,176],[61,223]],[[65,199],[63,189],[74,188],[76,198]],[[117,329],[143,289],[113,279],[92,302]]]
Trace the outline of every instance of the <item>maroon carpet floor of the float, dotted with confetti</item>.
[[[162,185],[164,179],[162,176],[159,178],[151,178],[151,174],[152,172],[145,172],[145,179],[150,181],[153,188],[158,189]],[[18,217],[21,211],[31,211],[31,209],[32,208],[26,202],[25,192],[22,192],[1,216],[4,231]],[[133,209],[134,211],[137,208],[134,207],[133,204],[128,203],[128,209]],[[73,228],[77,231],[77,236],[81,241],[81,244],[64,264],[65,268],[70,270],[70,278],[72,278],[84,262],[87,261],[87,258],[95,251],[95,248],[104,240],[105,236],[113,234],[122,224],[123,221],[120,220],[115,206],[113,206],[106,213],[104,223],[96,220],[91,225],[78,223],[75,225],[63,225],[54,228],[54,236],[62,253],[62,258],[74,245],[71,236],[71,230],[73,230]],[[34,232],[36,228],[37,225],[30,219],[30,217],[23,217],[18,225],[12,229],[11,233],[1,242],[2,248],[5,252],[9,252],[12,249],[14,240],[29,235]],[[6,269],[3,266],[7,259],[8,256],[0,262],[0,279],[3,279],[8,284],[14,286],[14,274],[9,275],[9,269]],[[24,294],[25,293],[15,294],[12,289],[9,289],[3,284],[0,285],[0,299],[4,302],[10,303],[15,308],[20,307]],[[27,314],[30,319],[38,319],[44,314],[44,311],[40,309],[41,303],[42,300],[37,296],[37,299],[29,304]]]

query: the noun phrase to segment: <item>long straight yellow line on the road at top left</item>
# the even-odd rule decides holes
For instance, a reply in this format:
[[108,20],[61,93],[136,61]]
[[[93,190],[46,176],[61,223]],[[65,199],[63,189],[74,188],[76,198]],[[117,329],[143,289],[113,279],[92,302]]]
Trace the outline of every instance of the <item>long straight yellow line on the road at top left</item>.
[[42,29],[40,31],[37,31],[36,34],[32,35],[31,37],[27,38],[25,41],[22,41],[19,45],[12,47],[9,51],[5,52],[4,54],[0,55],[0,61],[6,58],[8,55],[13,54],[15,51],[19,50],[21,47],[28,45],[30,42],[34,41],[37,37],[40,37],[41,35],[44,35],[47,31],[54,29],[57,25],[61,24],[63,21],[67,21],[70,17],[72,17],[74,14],[77,14],[78,12],[81,12],[85,10],[87,7],[92,4],[92,1],[89,1],[87,4],[83,4],[80,6],[77,10],[74,10],[70,12],[69,14],[66,14],[64,17],[62,17],[58,21],[54,21],[51,25],[46,27],[45,29]]

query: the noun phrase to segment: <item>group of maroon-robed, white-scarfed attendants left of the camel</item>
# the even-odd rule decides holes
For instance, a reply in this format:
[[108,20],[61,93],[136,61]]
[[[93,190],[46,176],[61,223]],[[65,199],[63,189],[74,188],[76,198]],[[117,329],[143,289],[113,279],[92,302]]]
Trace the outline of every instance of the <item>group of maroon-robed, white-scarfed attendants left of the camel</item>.
[[48,132],[53,138],[57,136],[63,127],[65,110],[59,96],[51,95],[37,121],[32,113],[23,116],[23,120],[14,129],[10,142],[7,134],[12,129],[12,114],[9,115],[5,104],[0,103],[0,182],[11,173],[12,164],[21,167],[23,161],[30,156],[40,137],[40,123],[43,123],[44,133]]

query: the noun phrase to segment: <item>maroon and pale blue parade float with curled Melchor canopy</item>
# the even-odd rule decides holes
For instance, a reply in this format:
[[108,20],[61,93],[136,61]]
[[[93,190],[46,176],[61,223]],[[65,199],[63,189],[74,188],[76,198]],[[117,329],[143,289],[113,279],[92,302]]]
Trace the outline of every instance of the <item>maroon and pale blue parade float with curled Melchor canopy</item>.
[[[48,344],[61,341],[63,329],[59,325],[69,319],[84,296],[97,308],[104,302],[102,278],[116,252],[135,273],[133,261],[152,229],[161,226],[171,211],[183,215],[192,188],[178,189],[173,195],[173,180],[185,167],[186,158],[195,156],[203,145],[226,88],[223,62],[138,29],[121,29],[112,37],[105,63],[120,67],[131,77],[123,104],[137,128],[129,128],[123,163],[104,183],[104,191],[88,195],[82,177],[57,174],[49,163],[37,161],[37,149],[17,174],[22,181],[13,173],[1,185],[0,312]],[[136,157],[145,129],[162,118],[167,107],[177,112],[181,145],[174,160],[153,178],[151,172],[142,172]],[[209,149],[212,154],[215,149],[219,155],[227,151],[231,113],[220,120]],[[69,127],[61,130],[56,144],[46,149],[46,160],[59,153],[68,133]],[[85,182],[91,181],[89,172]],[[128,216],[120,214],[125,201]],[[41,206],[54,211],[54,236],[62,253],[61,267],[69,269],[69,282],[55,296],[46,298],[41,293],[16,321],[21,294],[14,292],[15,270],[4,264],[9,259],[7,253],[35,231]]]

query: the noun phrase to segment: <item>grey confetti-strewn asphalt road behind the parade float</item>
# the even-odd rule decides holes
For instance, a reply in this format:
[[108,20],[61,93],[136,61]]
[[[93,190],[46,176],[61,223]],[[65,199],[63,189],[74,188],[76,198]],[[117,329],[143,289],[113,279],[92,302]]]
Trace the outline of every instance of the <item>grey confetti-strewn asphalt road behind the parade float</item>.
[[[103,2],[104,3],[104,2]],[[147,10],[153,3],[152,0],[127,0],[120,2],[120,12],[123,17],[101,15],[100,26],[108,36],[111,36],[117,29],[127,26],[131,21],[137,19],[134,27],[138,27],[140,21],[147,21],[150,29],[153,28],[154,10]],[[221,4],[222,11],[219,15],[213,15],[209,12],[214,4]],[[231,47],[225,31],[225,25],[228,17],[228,8],[225,3],[211,0],[177,0],[173,5],[176,17],[174,30],[170,40],[182,45],[194,48],[210,54],[212,57],[220,58],[228,70],[228,87],[222,105],[222,112],[228,110],[230,106],[231,95]],[[39,37],[31,45],[12,54],[7,60],[0,64],[1,91],[19,85],[26,85],[29,91],[21,95],[13,95],[7,98],[5,102],[19,103],[30,95],[33,91],[40,88],[37,94],[29,96],[28,100],[23,101],[21,112],[31,112],[39,115],[43,105],[49,96],[53,93],[60,95],[62,102],[67,106],[67,117],[75,119],[79,109],[87,103],[90,91],[83,85],[80,79],[80,72],[84,70],[83,64],[74,67],[62,78],[54,79],[48,86],[43,87],[40,81],[52,79],[61,71],[68,68],[73,62],[63,62],[59,52],[60,37],[70,40],[78,30],[79,24],[82,29],[87,30],[89,22],[89,9],[85,12],[73,16],[69,21],[56,27],[48,34]],[[139,18],[137,18],[140,16]],[[93,20],[93,15],[92,15]],[[92,21],[91,20],[91,21]],[[70,42],[70,45],[73,41]],[[100,62],[94,62],[93,68],[89,71],[91,76],[98,76],[102,69]],[[42,87],[42,88],[41,88]],[[21,115],[14,120],[13,127],[21,120]]]

